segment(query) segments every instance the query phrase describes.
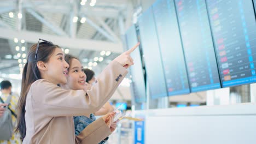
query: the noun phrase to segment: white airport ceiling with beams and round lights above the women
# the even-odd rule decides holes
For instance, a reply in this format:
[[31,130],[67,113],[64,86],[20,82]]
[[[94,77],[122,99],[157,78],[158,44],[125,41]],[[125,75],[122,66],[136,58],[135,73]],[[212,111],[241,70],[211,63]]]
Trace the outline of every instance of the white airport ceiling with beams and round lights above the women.
[[22,54],[38,38],[53,41],[100,73],[123,51],[134,5],[135,0],[2,0],[0,74],[19,74]]

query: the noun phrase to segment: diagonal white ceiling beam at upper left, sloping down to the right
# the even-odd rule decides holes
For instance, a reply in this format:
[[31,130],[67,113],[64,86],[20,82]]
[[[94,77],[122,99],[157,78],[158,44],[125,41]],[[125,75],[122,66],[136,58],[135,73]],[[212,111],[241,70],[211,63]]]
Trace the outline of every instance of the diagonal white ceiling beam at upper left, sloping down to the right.
[[68,35],[64,31],[62,31],[62,29],[60,29],[57,26],[54,26],[53,23],[46,21],[42,16],[40,16],[38,13],[36,13],[36,11],[29,8],[29,9],[27,9],[27,12],[30,13],[31,15],[33,15],[34,17],[36,17],[37,20],[42,22],[45,26],[49,27],[56,34],[68,37]]

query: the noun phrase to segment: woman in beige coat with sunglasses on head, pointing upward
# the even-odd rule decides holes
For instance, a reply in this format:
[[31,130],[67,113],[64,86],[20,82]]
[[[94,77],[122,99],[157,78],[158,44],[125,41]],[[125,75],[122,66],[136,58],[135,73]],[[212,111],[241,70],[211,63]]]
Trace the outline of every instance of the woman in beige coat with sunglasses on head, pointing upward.
[[117,76],[126,75],[126,68],[133,64],[130,53],[136,47],[110,62],[90,91],[74,91],[57,86],[67,82],[69,67],[60,47],[45,40],[34,44],[22,73],[18,103],[16,131],[23,143],[98,143],[107,137],[113,113],[97,119],[78,136],[74,135],[73,116],[97,111],[107,102],[122,80]]

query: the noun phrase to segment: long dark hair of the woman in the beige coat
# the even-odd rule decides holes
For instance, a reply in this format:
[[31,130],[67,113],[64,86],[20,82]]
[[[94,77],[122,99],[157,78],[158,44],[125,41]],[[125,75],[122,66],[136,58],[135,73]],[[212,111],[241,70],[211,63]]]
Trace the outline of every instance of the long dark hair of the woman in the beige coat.
[[51,55],[53,55],[53,52],[57,47],[59,46],[50,43],[39,43],[37,59],[34,58],[37,49],[37,44],[32,45],[30,51],[28,52],[27,63],[25,64],[22,73],[21,93],[18,101],[18,125],[15,129],[15,132],[20,133],[22,140],[26,136],[25,106],[27,93],[30,89],[31,84],[34,81],[41,79],[40,72],[37,67],[37,62],[48,62]]

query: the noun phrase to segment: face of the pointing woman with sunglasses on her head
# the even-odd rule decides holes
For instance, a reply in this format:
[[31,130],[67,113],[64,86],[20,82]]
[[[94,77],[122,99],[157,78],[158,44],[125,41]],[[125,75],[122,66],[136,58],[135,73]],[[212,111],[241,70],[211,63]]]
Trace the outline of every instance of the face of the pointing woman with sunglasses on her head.
[[56,48],[47,63],[38,62],[40,73],[43,79],[55,84],[67,82],[68,63],[64,59],[64,53],[60,48]]

